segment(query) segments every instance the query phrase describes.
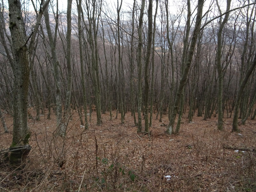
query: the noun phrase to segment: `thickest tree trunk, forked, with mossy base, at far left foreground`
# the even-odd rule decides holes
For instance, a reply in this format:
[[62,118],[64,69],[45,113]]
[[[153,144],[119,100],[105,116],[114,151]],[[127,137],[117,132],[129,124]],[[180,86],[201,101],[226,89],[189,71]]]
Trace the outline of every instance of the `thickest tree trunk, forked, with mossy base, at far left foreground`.
[[[39,24],[49,0],[42,1],[41,8],[37,15],[36,25],[31,31],[31,39],[28,45],[28,37],[25,33],[25,24],[21,12],[21,2],[10,0],[9,3],[9,28],[12,37],[14,57],[14,97],[13,97],[13,138],[11,147],[24,146],[28,144],[30,132],[28,130],[28,85],[29,85],[29,55],[34,47],[34,41]],[[42,6],[43,5],[43,6]],[[12,162],[20,161],[24,154],[28,154],[31,147],[21,148],[18,152],[12,153]]]

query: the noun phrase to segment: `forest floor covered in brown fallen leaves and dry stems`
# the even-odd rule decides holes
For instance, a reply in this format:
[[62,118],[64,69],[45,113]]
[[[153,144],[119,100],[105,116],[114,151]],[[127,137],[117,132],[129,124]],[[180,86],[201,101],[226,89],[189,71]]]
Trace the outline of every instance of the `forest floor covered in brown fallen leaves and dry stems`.
[[[130,112],[124,124],[102,114],[101,126],[93,113],[88,130],[74,113],[65,138],[54,137],[55,116],[29,119],[32,149],[19,167],[0,156],[0,191],[256,191],[256,121],[231,132],[232,118],[218,131],[217,117],[186,116],[169,136],[168,117],[154,114],[150,138],[137,134]],[[0,150],[12,142],[12,117],[5,120]]]

